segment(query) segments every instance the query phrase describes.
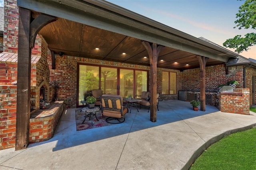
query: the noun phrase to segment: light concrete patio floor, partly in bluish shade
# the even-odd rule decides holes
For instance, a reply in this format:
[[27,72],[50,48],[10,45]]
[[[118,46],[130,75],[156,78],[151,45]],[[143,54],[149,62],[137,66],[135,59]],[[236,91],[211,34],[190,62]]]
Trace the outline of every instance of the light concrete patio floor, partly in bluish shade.
[[75,109],[67,109],[52,139],[0,150],[0,169],[188,169],[212,143],[256,125],[254,112],[223,113],[214,106],[193,111],[179,100],[161,101],[159,109],[154,123],[146,107],[133,107],[122,124],[83,131],[76,131]]

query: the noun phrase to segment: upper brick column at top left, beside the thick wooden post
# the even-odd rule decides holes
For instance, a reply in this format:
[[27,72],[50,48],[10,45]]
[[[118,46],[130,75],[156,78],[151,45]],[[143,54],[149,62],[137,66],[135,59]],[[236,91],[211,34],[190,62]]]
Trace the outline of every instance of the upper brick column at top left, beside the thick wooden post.
[[16,0],[4,0],[4,52],[18,53],[18,23]]

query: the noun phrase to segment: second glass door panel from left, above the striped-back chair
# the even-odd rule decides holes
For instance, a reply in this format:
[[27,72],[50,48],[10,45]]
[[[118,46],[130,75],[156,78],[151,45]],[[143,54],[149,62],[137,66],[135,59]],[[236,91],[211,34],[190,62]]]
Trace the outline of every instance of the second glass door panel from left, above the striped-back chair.
[[103,94],[117,94],[117,68],[101,67]]

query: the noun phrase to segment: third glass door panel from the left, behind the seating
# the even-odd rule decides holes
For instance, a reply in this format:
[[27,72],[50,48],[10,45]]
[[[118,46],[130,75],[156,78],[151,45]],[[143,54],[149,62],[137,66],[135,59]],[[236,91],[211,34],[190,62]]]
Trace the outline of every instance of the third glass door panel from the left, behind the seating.
[[134,84],[134,70],[120,69],[120,84],[119,92],[124,98],[128,96],[134,97],[133,84]]

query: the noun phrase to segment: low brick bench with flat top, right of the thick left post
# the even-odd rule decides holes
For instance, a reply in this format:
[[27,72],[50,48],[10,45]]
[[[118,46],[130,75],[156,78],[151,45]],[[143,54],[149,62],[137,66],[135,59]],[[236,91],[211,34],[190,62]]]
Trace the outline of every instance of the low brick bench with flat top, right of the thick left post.
[[29,142],[47,141],[54,135],[56,126],[63,112],[64,101],[51,103],[46,109],[30,115]]

